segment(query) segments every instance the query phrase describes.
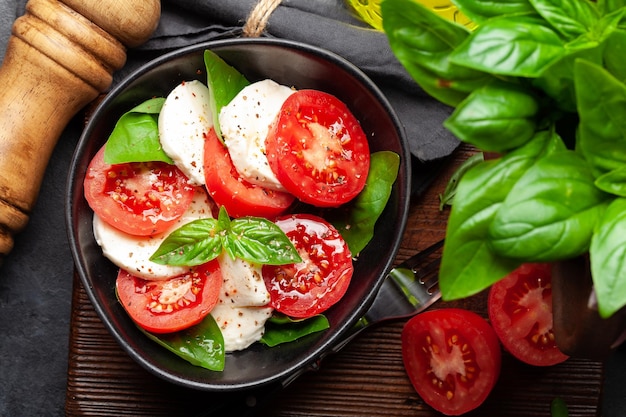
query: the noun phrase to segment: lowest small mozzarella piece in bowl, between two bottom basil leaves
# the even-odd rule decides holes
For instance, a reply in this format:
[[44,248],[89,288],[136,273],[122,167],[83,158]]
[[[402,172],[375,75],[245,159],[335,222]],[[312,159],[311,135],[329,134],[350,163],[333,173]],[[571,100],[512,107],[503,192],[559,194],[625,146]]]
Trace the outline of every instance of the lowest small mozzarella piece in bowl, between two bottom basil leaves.
[[222,331],[226,352],[243,350],[259,341],[272,311],[271,307],[231,307],[224,304],[215,306],[211,316]]

